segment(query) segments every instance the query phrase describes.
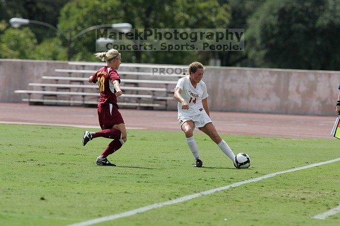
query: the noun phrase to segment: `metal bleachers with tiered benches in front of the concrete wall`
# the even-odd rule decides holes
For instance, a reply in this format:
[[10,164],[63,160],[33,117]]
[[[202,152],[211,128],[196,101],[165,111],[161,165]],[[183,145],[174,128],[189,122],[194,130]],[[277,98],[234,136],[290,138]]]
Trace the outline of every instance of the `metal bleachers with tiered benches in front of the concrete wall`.
[[[15,93],[27,95],[22,101],[29,104],[40,105],[79,105],[97,106],[99,100],[98,85],[88,83],[88,77],[97,70],[88,70],[88,66],[97,69],[105,64],[90,62],[69,62],[72,69],[55,69],[56,75],[42,76],[39,83],[29,83],[32,90],[15,90]],[[158,67],[160,65],[157,65]],[[174,67],[162,65],[162,67]],[[81,69],[74,69],[81,67]],[[146,108],[163,109],[168,108],[169,101],[173,98],[173,88],[182,74],[157,75],[145,72],[154,65],[121,64],[119,71],[121,77],[120,88],[123,95],[119,97],[120,108]],[[144,71],[139,71],[143,69]]]

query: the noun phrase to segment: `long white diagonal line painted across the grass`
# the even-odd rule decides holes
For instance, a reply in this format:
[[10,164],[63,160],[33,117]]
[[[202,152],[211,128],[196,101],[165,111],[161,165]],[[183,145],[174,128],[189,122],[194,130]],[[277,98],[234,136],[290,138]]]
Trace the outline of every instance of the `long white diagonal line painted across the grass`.
[[141,207],[141,208],[138,208],[138,209],[135,209],[135,210],[130,210],[130,211],[126,211],[126,212],[122,212],[122,213],[118,213],[118,214],[114,214],[114,215],[110,215],[110,216],[100,217],[100,218],[96,218],[96,219],[92,219],[92,220],[88,220],[88,221],[84,221],[84,222],[80,222],[80,223],[75,223],[75,224],[68,225],[68,226],[89,226],[89,225],[94,225],[94,224],[98,224],[98,223],[105,222],[105,221],[112,221],[112,220],[116,220],[116,219],[123,218],[123,217],[133,216],[133,215],[136,215],[137,213],[142,213],[142,212],[146,212],[148,210],[153,210],[153,209],[156,209],[156,208],[169,206],[169,205],[172,205],[172,204],[177,204],[177,203],[184,202],[184,201],[187,201],[187,200],[190,200],[190,199],[201,197],[203,195],[213,194],[213,193],[216,193],[216,192],[227,190],[229,188],[238,187],[238,186],[241,186],[243,184],[253,183],[253,182],[256,182],[256,181],[259,181],[259,180],[272,178],[272,177],[275,177],[275,176],[280,175],[280,174],[286,174],[286,173],[290,173],[290,172],[294,172],[294,171],[298,171],[298,170],[304,170],[304,169],[312,168],[312,167],[315,167],[315,166],[332,163],[332,162],[335,162],[335,161],[340,161],[340,158],[329,160],[329,161],[318,162],[318,163],[314,163],[314,164],[311,164],[311,165],[306,165],[306,166],[302,166],[302,167],[298,167],[298,168],[294,168],[294,169],[290,169],[290,170],[280,171],[280,172],[268,174],[268,175],[265,175],[265,176],[262,176],[262,177],[259,177],[259,178],[253,178],[253,179],[249,179],[249,180],[236,182],[236,183],[224,186],[224,187],[215,188],[215,189],[204,191],[204,192],[201,192],[201,193],[189,194],[187,196],[183,196],[183,197],[176,198],[176,199],[173,199],[173,200],[169,200],[169,201],[166,201],[166,202],[155,203],[155,204],[145,206],[145,207]]

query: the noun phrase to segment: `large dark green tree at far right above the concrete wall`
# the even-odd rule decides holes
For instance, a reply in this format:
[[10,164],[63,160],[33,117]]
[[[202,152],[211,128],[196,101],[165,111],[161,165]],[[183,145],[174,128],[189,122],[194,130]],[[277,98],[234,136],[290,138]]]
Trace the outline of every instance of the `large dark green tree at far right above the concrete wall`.
[[248,54],[256,66],[340,68],[339,0],[266,1],[249,20]]

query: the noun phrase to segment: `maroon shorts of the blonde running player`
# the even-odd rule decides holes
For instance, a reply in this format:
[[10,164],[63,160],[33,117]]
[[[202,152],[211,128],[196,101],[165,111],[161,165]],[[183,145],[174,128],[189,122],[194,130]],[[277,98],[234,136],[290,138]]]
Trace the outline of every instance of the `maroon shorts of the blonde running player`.
[[98,107],[98,120],[102,129],[111,129],[114,125],[124,123],[123,117],[115,104],[102,104]]

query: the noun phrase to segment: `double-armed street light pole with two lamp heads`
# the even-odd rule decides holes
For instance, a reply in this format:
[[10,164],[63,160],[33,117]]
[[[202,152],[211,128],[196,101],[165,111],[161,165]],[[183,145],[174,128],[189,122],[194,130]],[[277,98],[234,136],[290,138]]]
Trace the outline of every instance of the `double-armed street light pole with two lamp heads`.
[[[33,24],[39,24],[39,25],[43,25],[46,27],[49,27],[51,29],[53,29],[54,31],[58,32],[58,29],[56,27],[54,27],[53,25],[49,24],[49,23],[45,23],[42,21],[37,21],[37,20],[31,20],[31,19],[23,19],[23,18],[11,18],[9,20],[9,23],[11,24],[11,26],[13,28],[19,28],[21,25],[28,25],[30,23]],[[117,30],[121,30],[122,32],[128,32],[132,29],[132,25],[129,23],[116,23],[116,24],[100,24],[100,25],[95,25],[89,28],[84,29],[83,31],[77,33],[76,35],[74,35],[73,37],[71,36],[71,30],[69,30],[69,35],[65,35],[64,33],[58,32],[60,33],[67,41],[68,41],[68,61],[71,58],[71,44],[72,42],[78,38],[79,36],[85,34],[86,32],[92,31],[94,29],[100,29],[100,28],[112,28],[112,29],[117,29]]]

